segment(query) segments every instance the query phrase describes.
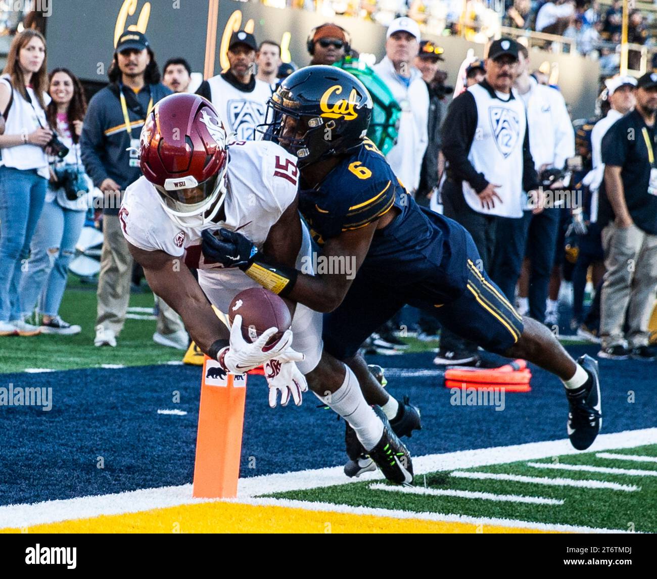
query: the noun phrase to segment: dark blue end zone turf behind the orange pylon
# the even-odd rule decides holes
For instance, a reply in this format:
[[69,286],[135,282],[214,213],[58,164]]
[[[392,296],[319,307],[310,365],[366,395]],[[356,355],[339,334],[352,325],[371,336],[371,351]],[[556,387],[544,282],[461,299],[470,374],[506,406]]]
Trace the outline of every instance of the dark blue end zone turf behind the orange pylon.
[[[568,350],[574,356],[595,355],[597,347]],[[368,362],[435,370],[432,356],[371,356]],[[600,369],[602,431],[654,427],[656,365],[601,360]],[[409,440],[411,453],[566,438],[562,385],[547,372],[535,367],[532,372],[532,392],[507,395],[503,412],[493,406],[452,406],[439,375],[390,377],[390,392],[409,395],[422,412],[424,430]],[[3,375],[3,387],[52,387],[53,408],[0,407],[0,504],[191,483],[200,374],[198,367],[162,365]],[[634,402],[628,402],[628,391],[635,392]],[[317,404],[307,393],[301,408],[271,410],[265,380],[250,376],[241,476],[344,463],[344,423]],[[187,415],[158,414],[160,409]]]

